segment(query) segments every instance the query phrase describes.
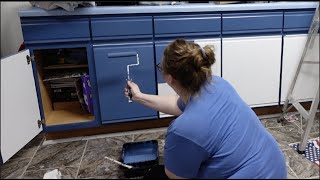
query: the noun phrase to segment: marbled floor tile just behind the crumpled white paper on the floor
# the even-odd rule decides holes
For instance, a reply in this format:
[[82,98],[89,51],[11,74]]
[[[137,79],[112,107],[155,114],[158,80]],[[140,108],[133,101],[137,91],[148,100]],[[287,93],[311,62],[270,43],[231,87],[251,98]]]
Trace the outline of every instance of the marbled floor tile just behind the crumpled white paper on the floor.
[[42,145],[27,171],[79,165],[86,141]]

